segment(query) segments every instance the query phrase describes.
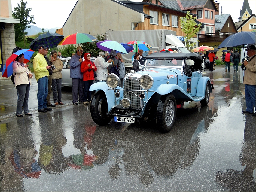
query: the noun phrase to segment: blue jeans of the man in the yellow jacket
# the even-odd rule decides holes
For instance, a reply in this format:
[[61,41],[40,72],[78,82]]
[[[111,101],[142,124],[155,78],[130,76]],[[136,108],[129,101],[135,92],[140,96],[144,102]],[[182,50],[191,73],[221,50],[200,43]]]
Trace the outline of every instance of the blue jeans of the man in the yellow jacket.
[[46,104],[46,97],[48,95],[48,77],[41,77],[37,81],[37,102],[38,102],[38,110],[47,108]]

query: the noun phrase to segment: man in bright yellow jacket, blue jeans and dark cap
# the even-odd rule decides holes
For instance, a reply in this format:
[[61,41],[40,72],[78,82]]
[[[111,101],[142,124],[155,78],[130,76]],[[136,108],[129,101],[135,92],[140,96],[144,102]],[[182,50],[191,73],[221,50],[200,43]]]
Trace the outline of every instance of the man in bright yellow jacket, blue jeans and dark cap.
[[35,78],[37,81],[37,102],[38,102],[38,112],[45,113],[47,111],[52,110],[52,108],[47,108],[46,97],[48,94],[48,77],[51,66],[47,64],[47,61],[44,58],[44,54],[48,48],[44,45],[39,45],[38,53],[34,57],[33,67],[35,72]]

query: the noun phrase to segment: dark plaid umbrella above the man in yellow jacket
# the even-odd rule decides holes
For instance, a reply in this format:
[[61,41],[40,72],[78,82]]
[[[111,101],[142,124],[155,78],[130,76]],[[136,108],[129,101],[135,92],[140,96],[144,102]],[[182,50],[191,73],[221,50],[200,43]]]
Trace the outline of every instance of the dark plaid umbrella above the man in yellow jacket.
[[58,33],[49,33],[49,32],[44,33],[44,34],[39,35],[37,38],[35,38],[31,42],[29,47],[33,51],[37,51],[38,46],[43,44],[50,49],[53,47],[57,47],[59,42],[62,41],[63,38],[64,38],[64,36],[60,35]]

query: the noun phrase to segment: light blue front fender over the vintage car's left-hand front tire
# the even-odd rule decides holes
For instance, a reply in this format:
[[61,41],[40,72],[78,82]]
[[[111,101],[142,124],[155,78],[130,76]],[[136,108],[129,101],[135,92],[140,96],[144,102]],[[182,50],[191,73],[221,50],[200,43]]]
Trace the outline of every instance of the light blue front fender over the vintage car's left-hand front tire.
[[[122,87],[117,86],[117,89],[123,89]],[[108,102],[108,112],[113,108],[115,104],[115,98],[113,98],[113,95],[115,94],[114,90],[108,87],[106,82],[98,82],[92,84],[92,86],[89,89],[90,91],[95,91],[95,90],[102,90],[104,91],[106,97],[107,97],[107,102]],[[123,91],[120,91],[120,97],[116,99],[116,102],[120,100],[120,98],[123,97]],[[119,104],[119,103],[118,103]]]

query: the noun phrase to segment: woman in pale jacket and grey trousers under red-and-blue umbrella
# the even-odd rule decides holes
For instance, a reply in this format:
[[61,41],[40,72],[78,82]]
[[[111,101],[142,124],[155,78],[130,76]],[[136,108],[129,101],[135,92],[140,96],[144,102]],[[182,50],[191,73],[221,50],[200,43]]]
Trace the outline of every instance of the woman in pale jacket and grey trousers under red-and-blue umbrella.
[[16,108],[17,117],[23,117],[21,114],[22,105],[24,107],[24,114],[32,115],[31,113],[29,113],[28,107],[29,107],[29,90],[31,85],[31,78],[33,78],[33,75],[28,69],[29,65],[26,65],[23,62],[24,62],[24,54],[21,54],[17,56],[17,58],[12,64],[15,87],[19,95],[17,108]]

